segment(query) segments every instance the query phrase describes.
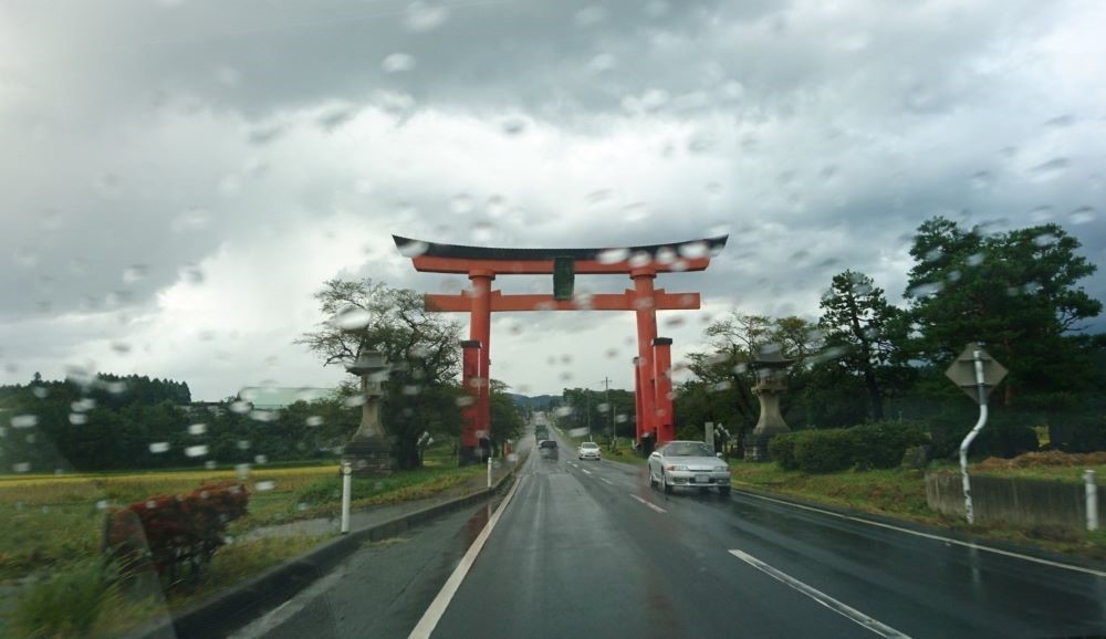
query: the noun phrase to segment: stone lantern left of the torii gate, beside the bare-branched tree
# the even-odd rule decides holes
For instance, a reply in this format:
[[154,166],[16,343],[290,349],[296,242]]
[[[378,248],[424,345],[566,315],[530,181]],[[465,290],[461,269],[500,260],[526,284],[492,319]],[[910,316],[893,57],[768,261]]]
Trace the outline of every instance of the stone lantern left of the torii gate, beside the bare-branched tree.
[[383,383],[392,366],[379,350],[363,350],[346,370],[361,377],[364,404],[361,406],[361,426],[345,446],[342,463],[348,463],[356,476],[385,476],[396,469],[384,425],[380,423]]

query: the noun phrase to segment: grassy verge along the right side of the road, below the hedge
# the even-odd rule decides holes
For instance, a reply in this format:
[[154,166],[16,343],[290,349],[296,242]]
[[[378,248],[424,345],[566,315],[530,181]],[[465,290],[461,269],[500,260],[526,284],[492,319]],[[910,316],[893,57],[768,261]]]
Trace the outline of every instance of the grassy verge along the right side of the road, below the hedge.
[[[948,464],[950,469],[957,468]],[[1043,468],[1043,467],[1042,467]],[[987,470],[987,474],[1003,476],[1033,476],[1075,481],[1078,475],[1071,467]],[[1061,530],[1055,527],[1022,528],[1001,524],[969,526],[959,518],[950,518],[929,510],[926,504],[926,478],[919,470],[890,469],[844,471],[828,474],[804,474],[781,470],[775,463],[753,463],[731,460],[735,488],[752,489],[794,496],[831,506],[852,509],[866,513],[898,517],[945,527],[973,535],[1037,546],[1047,551],[1068,553],[1095,559],[1106,559],[1106,532]],[[1079,470],[1082,472],[1082,470]],[[1082,480],[1081,480],[1082,481]]]

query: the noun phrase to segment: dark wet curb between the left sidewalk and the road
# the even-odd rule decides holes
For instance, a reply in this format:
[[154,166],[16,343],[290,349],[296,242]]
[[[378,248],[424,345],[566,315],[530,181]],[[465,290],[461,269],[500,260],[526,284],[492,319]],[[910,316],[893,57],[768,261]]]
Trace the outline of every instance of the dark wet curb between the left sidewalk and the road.
[[124,639],[191,639],[226,636],[306,588],[312,582],[332,570],[346,556],[359,549],[363,543],[394,537],[439,515],[476,505],[501,493],[508,480],[514,479],[524,462],[525,458],[520,459],[518,465],[497,480],[490,489],[482,489],[324,542],[210,599],[181,610],[171,619],[163,617],[148,621],[123,637]]

